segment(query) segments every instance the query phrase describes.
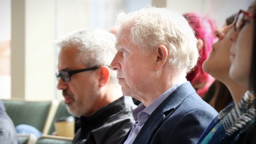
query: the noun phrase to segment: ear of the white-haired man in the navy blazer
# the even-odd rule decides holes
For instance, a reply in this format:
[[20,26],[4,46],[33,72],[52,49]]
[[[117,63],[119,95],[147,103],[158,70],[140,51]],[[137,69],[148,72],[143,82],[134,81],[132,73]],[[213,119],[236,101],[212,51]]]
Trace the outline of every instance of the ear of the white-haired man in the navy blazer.
[[156,53],[156,66],[155,71],[160,70],[160,68],[166,63],[168,58],[168,50],[165,46],[159,45],[155,50]]

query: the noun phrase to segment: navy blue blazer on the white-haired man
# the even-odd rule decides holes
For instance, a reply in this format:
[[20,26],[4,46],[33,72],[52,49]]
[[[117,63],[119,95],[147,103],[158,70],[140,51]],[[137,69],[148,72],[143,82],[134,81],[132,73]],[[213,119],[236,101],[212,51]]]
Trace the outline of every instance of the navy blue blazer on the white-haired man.
[[133,144],[196,144],[217,114],[201,99],[190,82],[186,82],[149,116]]

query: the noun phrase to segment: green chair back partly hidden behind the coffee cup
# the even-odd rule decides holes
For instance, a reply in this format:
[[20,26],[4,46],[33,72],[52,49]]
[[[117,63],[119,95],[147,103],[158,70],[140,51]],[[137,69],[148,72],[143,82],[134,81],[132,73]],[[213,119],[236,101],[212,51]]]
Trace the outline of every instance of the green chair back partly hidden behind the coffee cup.
[[55,122],[56,119],[58,119],[60,117],[68,117],[68,116],[71,116],[71,114],[68,112],[64,101],[61,101],[59,103],[59,106],[58,106],[57,111],[55,113],[55,116],[53,118],[53,121],[52,121],[52,124],[51,124],[51,127],[50,127],[50,130],[49,130],[48,134],[51,135],[55,131],[54,122]]

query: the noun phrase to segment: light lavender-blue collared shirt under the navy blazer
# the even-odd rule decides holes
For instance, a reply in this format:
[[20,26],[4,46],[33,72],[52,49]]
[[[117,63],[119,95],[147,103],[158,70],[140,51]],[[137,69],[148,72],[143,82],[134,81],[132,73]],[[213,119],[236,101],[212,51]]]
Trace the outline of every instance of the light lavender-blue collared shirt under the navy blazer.
[[147,121],[148,117],[151,113],[155,111],[155,109],[173,92],[175,91],[181,84],[177,83],[169,90],[161,94],[156,100],[153,101],[148,107],[146,107],[143,103],[141,103],[136,109],[133,110],[133,117],[135,119],[135,123],[133,124],[132,130],[127,137],[124,144],[132,144],[135,140],[136,136],[139,134],[139,131],[143,127],[144,123]]

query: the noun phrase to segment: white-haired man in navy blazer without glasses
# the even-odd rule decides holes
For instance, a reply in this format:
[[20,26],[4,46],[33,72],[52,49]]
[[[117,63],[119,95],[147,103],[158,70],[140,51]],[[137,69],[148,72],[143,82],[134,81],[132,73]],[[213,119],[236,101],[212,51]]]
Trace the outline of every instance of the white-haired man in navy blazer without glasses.
[[197,63],[194,32],[185,18],[164,8],[117,15],[117,71],[124,95],[142,102],[121,143],[197,143],[217,112],[186,80]]

